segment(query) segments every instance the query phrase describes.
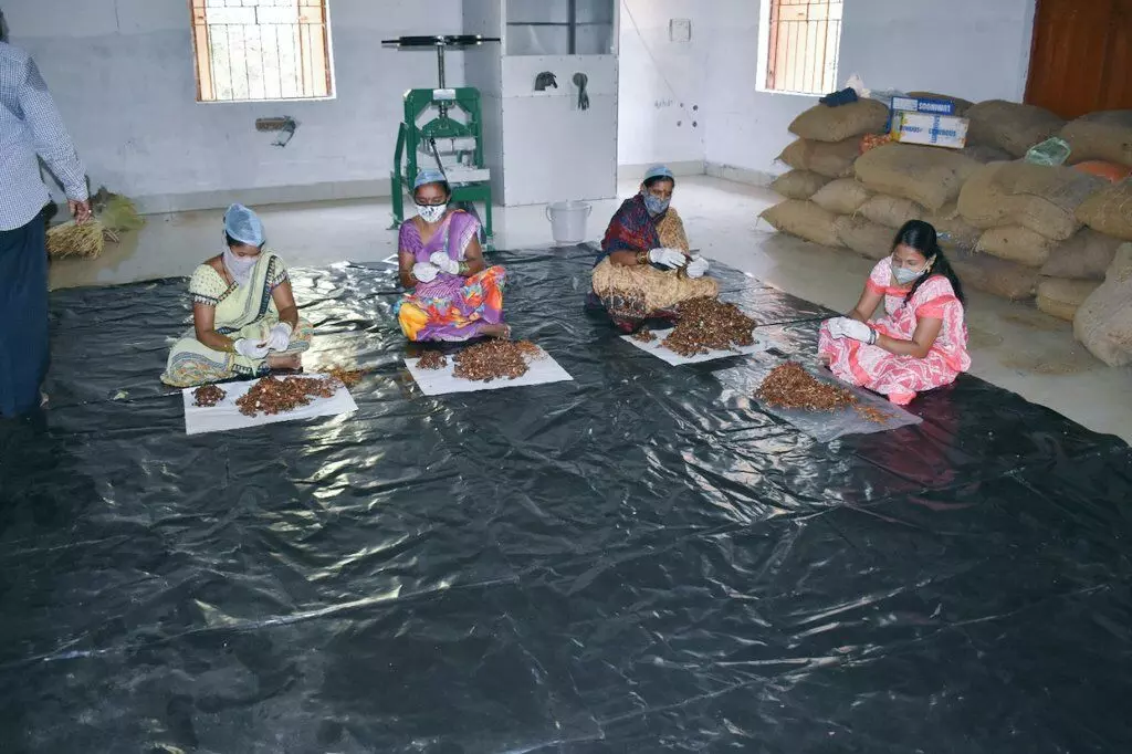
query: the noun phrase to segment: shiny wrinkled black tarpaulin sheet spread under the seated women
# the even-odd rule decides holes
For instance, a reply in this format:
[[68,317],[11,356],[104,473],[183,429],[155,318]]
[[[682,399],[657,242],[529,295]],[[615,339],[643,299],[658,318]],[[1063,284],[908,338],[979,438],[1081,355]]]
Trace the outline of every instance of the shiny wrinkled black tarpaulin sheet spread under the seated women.
[[[1132,463],[978,379],[817,444],[500,254],[573,383],[422,396],[393,271],[295,271],[355,414],[186,437],[183,281],[52,297],[0,425],[3,752],[1121,752]],[[814,307],[727,273],[809,359]],[[812,363],[812,361],[811,361]]]

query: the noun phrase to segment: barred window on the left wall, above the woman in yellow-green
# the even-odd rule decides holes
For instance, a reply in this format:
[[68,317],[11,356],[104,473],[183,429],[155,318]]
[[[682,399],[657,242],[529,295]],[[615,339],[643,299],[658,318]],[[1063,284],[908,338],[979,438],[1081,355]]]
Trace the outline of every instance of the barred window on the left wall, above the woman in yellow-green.
[[334,96],[328,0],[189,0],[198,102]]

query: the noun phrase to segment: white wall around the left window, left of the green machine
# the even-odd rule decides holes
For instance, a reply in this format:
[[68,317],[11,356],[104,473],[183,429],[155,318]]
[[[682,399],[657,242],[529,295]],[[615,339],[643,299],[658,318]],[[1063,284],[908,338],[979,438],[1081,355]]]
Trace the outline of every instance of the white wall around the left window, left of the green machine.
[[[310,195],[284,187],[318,186],[326,198],[371,194],[388,180],[401,95],[436,84],[432,53],[383,49],[380,40],[462,28],[461,0],[331,0],[336,100],[198,104],[186,0],[5,0],[3,11],[91,180],[148,198],[148,208],[216,206],[223,202],[209,195],[248,189],[274,189],[276,200]],[[458,53],[447,68],[449,84],[461,84]],[[284,114],[299,129],[278,148],[255,120]]]

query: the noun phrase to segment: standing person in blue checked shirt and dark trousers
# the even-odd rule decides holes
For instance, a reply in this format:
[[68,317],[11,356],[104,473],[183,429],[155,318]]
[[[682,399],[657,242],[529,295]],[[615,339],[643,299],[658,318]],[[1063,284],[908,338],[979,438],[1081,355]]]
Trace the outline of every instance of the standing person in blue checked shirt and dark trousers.
[[[2,29],[2,17],[0,17]],[[0,417],[41,402],[48,371],[48,249],[51,199],[42,158],[67,192],[76,222],[91,219],[86,171],[38,68],[0,40]]]

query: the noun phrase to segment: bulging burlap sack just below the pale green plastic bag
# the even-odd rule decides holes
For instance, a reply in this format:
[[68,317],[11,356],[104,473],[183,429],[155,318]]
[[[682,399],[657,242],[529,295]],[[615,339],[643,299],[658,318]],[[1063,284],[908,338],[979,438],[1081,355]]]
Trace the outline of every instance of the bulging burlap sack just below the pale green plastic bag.
[[959,212],[976,228],[1022,225],[1064,241],[1081,228],[1078,208],[1106,186],[1072,168],[1027,162],[979,168],[959,194]]

